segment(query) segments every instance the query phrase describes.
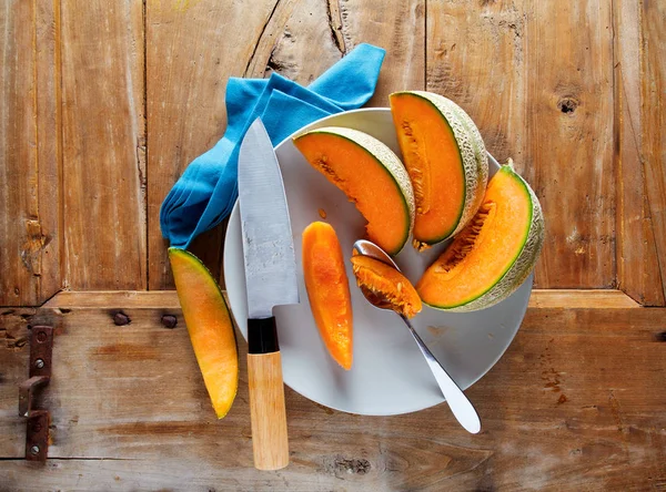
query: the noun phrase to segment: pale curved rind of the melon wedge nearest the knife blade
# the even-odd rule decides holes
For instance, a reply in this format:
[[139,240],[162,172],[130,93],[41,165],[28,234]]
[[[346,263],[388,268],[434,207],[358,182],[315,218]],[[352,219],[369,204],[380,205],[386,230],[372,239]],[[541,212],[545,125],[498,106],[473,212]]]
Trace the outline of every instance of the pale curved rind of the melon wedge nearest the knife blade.
[[367,133],[360,132],[359,130],[346,129],[342,126],[325,126],[322,129],[311,130],[310,132],[295,136],[294,141],[313,133],[337,135],[355,145],[359,145],[389,172],[390,176],[393,178],[401,192],[405,212],[408,217],[407,228],[400,247],[395,252],[386,252],[392,256],[397,255],[412,235],[412,229],[414,227],[414,214],[416,212],[416,206],[414,205],[414,189],[412,188],[410,175],[407,174],[402,161],[382,141],[369,135]]

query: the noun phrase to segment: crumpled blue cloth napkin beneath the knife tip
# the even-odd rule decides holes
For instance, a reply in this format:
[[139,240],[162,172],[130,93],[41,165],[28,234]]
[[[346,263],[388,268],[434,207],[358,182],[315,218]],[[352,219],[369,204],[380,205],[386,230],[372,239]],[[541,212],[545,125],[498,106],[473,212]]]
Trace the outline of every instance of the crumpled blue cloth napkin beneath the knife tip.
[[160,209],[162,236],[186,248],[226,217],[238,196],[241,141],[260,116],[278,145],[300,127],[329,114],[362,106],[374,93],[385,51],[360,44],[307,88],[276,73],[270,79],[229,80],[226,132],[190,163]]

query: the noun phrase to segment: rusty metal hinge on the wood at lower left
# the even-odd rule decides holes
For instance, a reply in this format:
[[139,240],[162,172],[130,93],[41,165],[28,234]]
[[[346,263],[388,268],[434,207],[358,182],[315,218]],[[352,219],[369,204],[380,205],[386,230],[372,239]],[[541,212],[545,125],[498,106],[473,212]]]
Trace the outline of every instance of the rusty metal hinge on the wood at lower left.
[[34,326],[30,334],[30,378],[19,386],[19,416],[26,417],[26,460],[47,461],[49,451],[49,426],[51,414],[48,410],[34,410],[32,397],[38,388],[51,380],[51,360],[53,353],[53,328]]

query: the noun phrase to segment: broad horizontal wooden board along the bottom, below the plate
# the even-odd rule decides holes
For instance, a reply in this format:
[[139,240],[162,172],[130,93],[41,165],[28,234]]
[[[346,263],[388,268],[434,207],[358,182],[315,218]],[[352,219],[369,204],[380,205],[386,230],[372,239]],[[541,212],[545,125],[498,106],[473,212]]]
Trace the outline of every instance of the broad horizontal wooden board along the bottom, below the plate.
[[[252,469],[244,342],[241,385],[218,421],[179,310],[0,312],[0,476],[9,490],[648,490],[666,479],[664,309],[529,308],[508,351],[467,394],[484,422],[445,404],[395,417],[320,407],[286,389],[291,464]],[[49,462],[24,463],[16,385],[28,324],[52,322]],[[11,335],[8,337],[8,335]],[[208,489],[205,489],[208,490]]]

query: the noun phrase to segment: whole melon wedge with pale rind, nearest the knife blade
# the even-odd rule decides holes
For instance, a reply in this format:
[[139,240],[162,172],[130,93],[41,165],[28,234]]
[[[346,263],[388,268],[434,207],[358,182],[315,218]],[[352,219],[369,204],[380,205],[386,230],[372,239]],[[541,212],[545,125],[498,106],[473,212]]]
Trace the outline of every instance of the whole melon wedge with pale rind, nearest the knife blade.
[[367,221],[369,239],[397,255],[412,232],[414,194],[391,148],[366,133],[336,126],[299,135],[294,145],[355,204]]

